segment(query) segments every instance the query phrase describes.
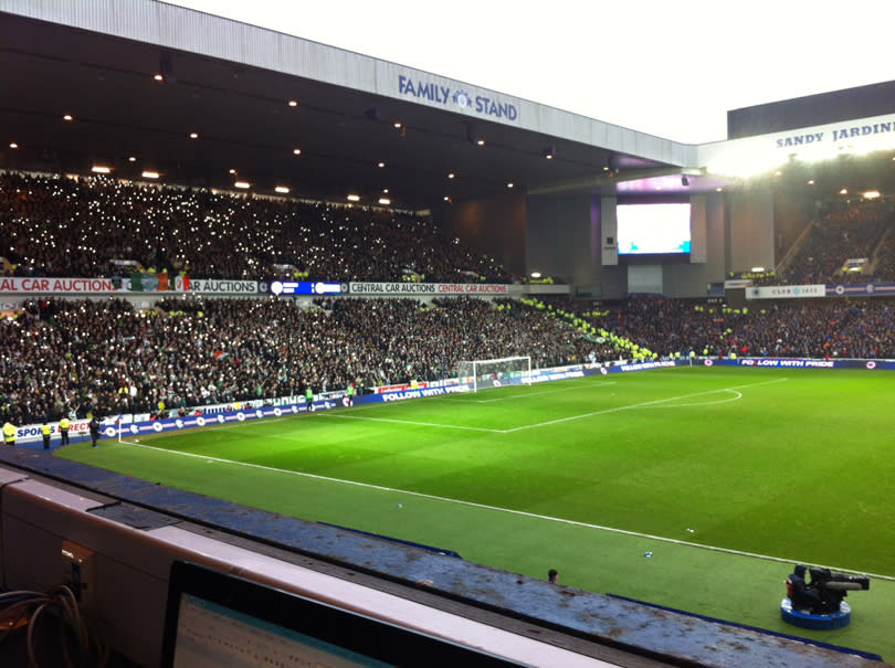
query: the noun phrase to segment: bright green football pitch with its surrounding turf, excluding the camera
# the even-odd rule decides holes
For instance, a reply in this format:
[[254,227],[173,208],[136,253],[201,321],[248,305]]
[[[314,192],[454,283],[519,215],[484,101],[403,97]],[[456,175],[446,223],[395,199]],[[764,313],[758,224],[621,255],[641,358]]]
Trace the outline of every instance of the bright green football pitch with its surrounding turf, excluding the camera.
[[[891,661],[893,388],[885,371],[674,368],[59,456]],[[780,621],[799,562],[871,575],[850,626]]]

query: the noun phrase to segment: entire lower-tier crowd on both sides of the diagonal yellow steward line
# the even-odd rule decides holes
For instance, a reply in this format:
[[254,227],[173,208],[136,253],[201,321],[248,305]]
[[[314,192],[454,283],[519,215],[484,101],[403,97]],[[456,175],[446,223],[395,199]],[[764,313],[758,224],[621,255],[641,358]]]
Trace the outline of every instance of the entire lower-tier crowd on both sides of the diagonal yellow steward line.
[[[895,358],[888,299],[794,299],[730,309],[640,296],[583,310],[663,358]],[[14,423],[88,412],[360,391],[456,375],[457,362],[530,356],[534,368],[613,361],[628,349],[582,333],[570,311],[518,300],[171,298],[32,300],[0,320],[0,409]],[[573,318],[578,320],[578,318]]]

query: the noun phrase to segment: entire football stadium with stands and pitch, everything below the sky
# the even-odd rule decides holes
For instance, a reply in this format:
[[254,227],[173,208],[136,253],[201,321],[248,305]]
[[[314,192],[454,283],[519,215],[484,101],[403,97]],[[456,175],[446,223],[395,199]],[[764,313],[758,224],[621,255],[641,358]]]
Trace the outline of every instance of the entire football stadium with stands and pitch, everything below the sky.
[[0,57],[2,665],[895,661],[895,82],[684,145],[155,0]]

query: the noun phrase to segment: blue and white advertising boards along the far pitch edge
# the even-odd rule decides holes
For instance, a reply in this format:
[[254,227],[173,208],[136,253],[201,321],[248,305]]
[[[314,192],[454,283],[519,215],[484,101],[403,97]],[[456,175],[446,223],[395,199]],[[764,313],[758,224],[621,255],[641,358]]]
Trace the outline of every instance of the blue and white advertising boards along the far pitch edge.
[[[865,369],[895,370],[895,360],[813,360],[800,358],[693,358],[680,360],[657,360],[651,362],[618,361],[610,363],[588,363],[570,367],[556,367],[552,369],[535,369],[530,374],[510,372],[497,379],[495,386],[522,385],[545,383],[589,375],[607,375],[610,373],[630,373],[634,371],[649,371],[668,367],[740,367],[740,368],[786,368],[786,369]],[[441,396],[472,392],[472,379],[448,379],[443,381],[420,381],[403,384],[383,385],[377,388],[371,394],[355,396],[354,405],[375,403],[389,403],[427,396]],[[348,406],[348,399],[344,391],[326,392],[316,396],[313,402],[314,411],[330,411]],[[243,404],[213,404],[190,409],[189,415],[152,420],[148,413],[123,414],[107,416],[103,422],[102,438],[139,438],[141,435],[161,434],[194,427],[221,426],[251,420],[265,420],[308,413],[304,399],[284,396],[276,400],[254,400]],[[57,446],[59,423],[49,423],[52,430],[51,445]],[[90,437],[88,421],[72,421],[69,432],[72,442],[84,441]],[[41,425],[30,424],[18,427],[17,443],[42,443]]]

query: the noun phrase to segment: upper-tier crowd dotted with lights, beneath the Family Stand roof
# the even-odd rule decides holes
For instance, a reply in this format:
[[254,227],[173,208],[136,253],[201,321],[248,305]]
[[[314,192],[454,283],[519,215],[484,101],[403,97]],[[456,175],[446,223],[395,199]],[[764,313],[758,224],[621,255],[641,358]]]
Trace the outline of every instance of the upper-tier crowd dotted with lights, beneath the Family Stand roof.
[[0,227],[15,275],[109,276],[119,259],[194,278],[517,279],[424,216],[107,177],[0,173]]

